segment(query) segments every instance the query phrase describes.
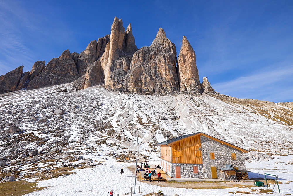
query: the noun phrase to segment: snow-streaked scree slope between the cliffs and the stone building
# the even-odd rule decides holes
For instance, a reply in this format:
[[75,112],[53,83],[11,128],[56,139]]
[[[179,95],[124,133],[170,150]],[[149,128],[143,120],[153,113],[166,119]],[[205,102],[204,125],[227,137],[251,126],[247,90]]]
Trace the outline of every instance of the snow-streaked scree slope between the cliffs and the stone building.
[[[46,145],[54,147],[58,141],[66,140],[68,146],[74,146],[76,142],[113,143],[113,146],[134,150],[137,133],[139,148],[149,149],[164,141],[166,135],[175,137],[202,131],[252,150],[250,158],[260,158],[259,153],[254,151],[291,153],[293,126],[273,117],[277,116],[274,113],[277,110],[288,115],[292,115],[293,111],[268,103],[269,107],[255,109],[255,106],[235,101],[228,103],[205,94],[123,94],[108,91],[102,85],[79,91],[71,84],[57,85],[2,95],[0,142],[13,143],[15,148],[28,144],[45,148]],[[52,111],[57,108],[63,109],[65,114],[54,115]],[[268,111],[269,118],[264,116],[264,112]],[[46,116],[50,118],[46,123],[38,122]],[[6,123],[20,127],[23,134],[9,136]],[[33,133],[35,141],[16,141],[20,135],[29,133]],[[2,145],[2,153],[9,156],[8,150],[13,146]],[[261,157],[269,158],[268,155]]]

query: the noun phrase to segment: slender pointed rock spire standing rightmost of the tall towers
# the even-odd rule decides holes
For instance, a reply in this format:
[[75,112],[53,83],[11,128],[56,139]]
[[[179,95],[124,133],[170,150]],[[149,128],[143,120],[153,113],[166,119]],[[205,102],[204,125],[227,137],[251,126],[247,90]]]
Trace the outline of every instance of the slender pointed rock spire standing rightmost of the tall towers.
[[195,52],[189,41],[183,36],[177,64],[180,93],[201,93],[201,84],[195,60]]

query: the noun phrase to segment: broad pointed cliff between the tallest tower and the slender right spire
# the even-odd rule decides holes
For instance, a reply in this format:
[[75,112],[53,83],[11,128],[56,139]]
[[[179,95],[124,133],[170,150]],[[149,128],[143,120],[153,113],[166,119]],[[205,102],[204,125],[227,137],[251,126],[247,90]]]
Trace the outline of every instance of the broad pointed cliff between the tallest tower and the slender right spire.
[[137,50],[126,79],[126,92],[164,94],[178,92],[176,47],[160,28],[149,47]]

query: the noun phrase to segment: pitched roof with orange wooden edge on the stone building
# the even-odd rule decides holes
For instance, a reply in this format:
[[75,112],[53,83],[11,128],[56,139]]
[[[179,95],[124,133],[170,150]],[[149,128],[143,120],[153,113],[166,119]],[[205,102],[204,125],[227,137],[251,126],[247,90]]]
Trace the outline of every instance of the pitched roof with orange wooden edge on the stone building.
[[176,141],[180,141],[180,140],[183,140],[185,138],[188,138],[188,137],[191,137],[191,136],[196,136],[196,135],[206,136],[208,138],[211,138],[213,140],[216,140],[216,141],[220,142],[221,144],[226,144],[227,146],[231,146],[231,147],[236,148],[236,149],[238,149],[238,150],[240,150],[242,152],[245,152],[245,153],[248,153],[249,152],[248,150],[245,150],[244,148],[240,148],[240,147],[235,146],[235,145],[233,145],[231,143],[228,143],[226,141],[220,140],[218,138],[215,138],[213,136],[210,136],[210,135],[205,134],[205,133],[202,133],[202,132],[197,132],[197,133],[193,133],[193,134],[179,136],[179,137],[176,137],[176,138],[173,138],[173,139],[169,139],[168,141],[163,141],[163,142],[157,143],[157,145],[168,145],[168,144],[172,144],[172,143],[174,143]]

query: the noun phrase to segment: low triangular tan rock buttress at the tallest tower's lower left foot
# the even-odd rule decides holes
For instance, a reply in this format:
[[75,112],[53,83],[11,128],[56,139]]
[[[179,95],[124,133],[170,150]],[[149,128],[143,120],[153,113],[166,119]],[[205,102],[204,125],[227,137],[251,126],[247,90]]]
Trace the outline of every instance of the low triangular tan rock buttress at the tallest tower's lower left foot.
[[85,89],[104,83],[104,74],[101,67],[101,61],[97,60],[91,64],[86,73],[75,80],[72,84],[78,89]]

